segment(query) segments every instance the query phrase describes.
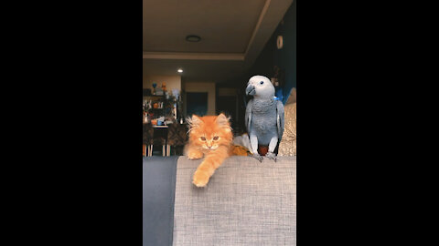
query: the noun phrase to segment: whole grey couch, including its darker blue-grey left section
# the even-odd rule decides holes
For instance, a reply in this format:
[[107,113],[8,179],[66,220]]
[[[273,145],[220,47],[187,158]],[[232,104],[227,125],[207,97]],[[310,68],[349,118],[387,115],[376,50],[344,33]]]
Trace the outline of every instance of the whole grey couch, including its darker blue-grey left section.
[[144,159],[144,246],[295,245],[295,157],[230,157],[197,188],[201,161]]

